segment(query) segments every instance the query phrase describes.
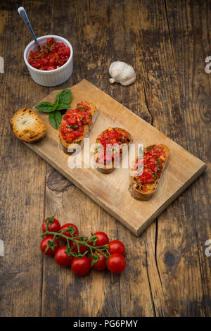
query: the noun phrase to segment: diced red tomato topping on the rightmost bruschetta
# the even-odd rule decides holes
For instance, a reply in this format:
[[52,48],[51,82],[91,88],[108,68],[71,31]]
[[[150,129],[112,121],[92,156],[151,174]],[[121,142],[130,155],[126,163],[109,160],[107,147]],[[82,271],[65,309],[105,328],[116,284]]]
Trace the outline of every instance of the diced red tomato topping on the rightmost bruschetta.
[[[153,183],[160,177],[165,161],[166,153],[160,145],[147,147],[143,153],[143,161],[140,161],[139,158],[136,159],[132,170],[137,173],[137,182],[143,183],[141,187],[143,191],[147,190],[145,183]],[[141,171],[141,175],[139,175],[141,166],[143,172]]]

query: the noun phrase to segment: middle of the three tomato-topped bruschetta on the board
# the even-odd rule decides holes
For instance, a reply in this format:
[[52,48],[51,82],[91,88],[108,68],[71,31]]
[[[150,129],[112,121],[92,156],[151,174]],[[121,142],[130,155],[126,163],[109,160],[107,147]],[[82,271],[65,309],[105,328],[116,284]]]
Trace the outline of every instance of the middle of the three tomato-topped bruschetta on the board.
[[112,173],[131,142],[130,133],[120,127],[108,127],[98,135],[95,151],[98,171]]

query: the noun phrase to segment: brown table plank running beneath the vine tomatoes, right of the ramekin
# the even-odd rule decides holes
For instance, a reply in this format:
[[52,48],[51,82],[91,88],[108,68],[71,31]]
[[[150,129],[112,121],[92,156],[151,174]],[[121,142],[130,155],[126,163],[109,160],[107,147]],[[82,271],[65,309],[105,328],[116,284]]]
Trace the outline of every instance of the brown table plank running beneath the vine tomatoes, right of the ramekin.
[[[117,3],[115,1],[115,8],[112,9],[112,6],[106,3],[106,1],[103,2],[103,5],[99,5],[97,1],[91,1],[91,3],[88,1],[87,3],[85,1],[77,1],[77,4],[75,3],[75,6],[73,6],[75,12],[72,12],[71,5],[69,9],[69,7],[63,7],[62,4],[61,8],[64,9],[58,11],[60,4],[57,2],[54,3],[53,22],[60,20],[60,15],[63,17],[64,22],[60,27],[60,34],[66,34],[66,37],[72,42],[75,52],[74,72],[70,80],[65,83],[65,86],[68,87],[85,77],[87,80],[90,80],[96,84],[96,86],[103,89],[103,91],[115,97],[115,99],[124,103],[124,105],[131,106],[132,109],[143,116],[143,118],[151,121],[151,114],[148,113],[148,109],[146,108],[142,85],[140,86],[138,83],[129,88],[125,88],[120,85],[111,86],[108,82],[108,67],[112,61],[121,58],[121,56],[124,58],[124,61],[128,63],[133,64],[134,61],[133,54],[128,51],[127,45],[124,45],[123,34],[120,33],[119,39],[116,39],[115,35],[111,33],[112,30],[118,29],[121,31],[122,29],[122,13],[124,8],[121,3],[122,1],[117,1]],[[71,31],[67,30],[67,27],[69,27],[67,22],[72,22],[73,20],[75,20],[75,28],[70,27]],[[73,35],[75,37],[71,39]],[[129,43],[132,47],[132,41],[129,41]],[[113,50],[113,58],[110,57],[111,49]],[[134,95],[141,95],[141,99],[135,99]],[[140,101],[141,107],[137,108],[136,105],[139,104]],[[57,176],[59,180],[60,175]],[[65,215],[67,215],[68,220],[75,220],[76,223],[79,223],[79,228],[84,235],[88,235],[87,230],[88,232],[91,230],[104,230],[108,232],[111,239],[118,238],[122,240],[127,245],[129,261],[130,256],[132,256],[132,251],[134,250],[133,242],[136,240],[134,239],[134,235],[126,230],[125,227],[122,227],[122,225],[109,216],[108,213],[105,213],[101,207],[94,204],[93,201],[90,201],[82,192],[79,192],[76,187],[71,186],[65,189],[64,196],[65,195],[67,196],[65,201],[68,201],[68,199],[72,200],[72,196],[74,196],[74,201],[72,201],[70,206],[70,204],[65,204],[65,201],[63,201],[64,197],[60,197],[59,201],[63,201],[63,211],[61,211],[62,215],[60,216],[58,213],[58,216],[62,218],[63,223],[65,222]],[[46,203],[47,216],[47,212],[51,213],[53,206],[60,206],[61,202],[59,203],[56,197],[53,199],[52,204],[52,192],[49,191],[49,189],[47,189],[46,199],[48,200],[48,203]],[[75,214],[75,204],[80,208],[79,216]],[[139,243],[140,242],[141,240],[139,240]],[[142,251],[144,251],[144,245],[141,244],[141,246],[143,248],[139,251],[139,244],[137,243],[137,251],[139,251],[137,258],[138,256],[141,257]],[[126,275],[110,275],[108,272],[99,274],[92,271],[90,275],[87,275],[84,279],[78,279],[75,275],[72,275],[72,273],[60,270],[61,268],[56,266],[52,267],[52,263],[46,258],[44,260],[44,299],[42,314],[44,316],[55,316],[56,314],[62,316],[120,316],[121,314],[127,315],[132,313],[132,315],[137,316],[142,311],[143,315],[153,316],[151,292],[148,284],[146,266],[144,264],[140,264],[138,268],[136,267],[137,272],[134,274],[134,277],[136,277],[135,275],[139,273],[141,277],[140,280],[144,280],[144,286],[142,289],[139,289],[137,285],[132,289],[134,277],[130,279],[129,275],[131,275],[134,270],[134,263],[135,261],[129,263]],[[52,273],[56,278],[58,287],[57,294],[59,298],[58,301],[52,298],[53,307],[47,305],[47,298],[51,295]],[[124,307],[126,303],[122,303],[120,292],[122,292],[122,284],[125,277],[130,280],[124,292],[127,297],[131,296],[132,305],[128,306],[127,310],[123,310],[122,312],[122,307]],[[67,292],[63,290],[64,283],[72,284]],[[139,284],[139,282],[137,284]],[[70,292],[72,291],[72,296],[75,298],[75,302],[77,302],[75,308],[70,306],[70,308],[64,308],[63,311],[61,311],[61,301],[71,303],[72,296]],[[138,298],[141,295],[143,296],[143,292],[148,302],[147,305],[143,304],[143,301],[137,304],[139,301]]]

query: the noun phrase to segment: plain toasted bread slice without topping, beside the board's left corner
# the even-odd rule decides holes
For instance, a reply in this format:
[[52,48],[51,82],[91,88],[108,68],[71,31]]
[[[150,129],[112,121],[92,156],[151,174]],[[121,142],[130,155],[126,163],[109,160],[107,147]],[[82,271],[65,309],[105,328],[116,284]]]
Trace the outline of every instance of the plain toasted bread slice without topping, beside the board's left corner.
[[39,142],[47,131],[46,123],[30,108],[22,108],[11,118],[13,134],[23,142]]

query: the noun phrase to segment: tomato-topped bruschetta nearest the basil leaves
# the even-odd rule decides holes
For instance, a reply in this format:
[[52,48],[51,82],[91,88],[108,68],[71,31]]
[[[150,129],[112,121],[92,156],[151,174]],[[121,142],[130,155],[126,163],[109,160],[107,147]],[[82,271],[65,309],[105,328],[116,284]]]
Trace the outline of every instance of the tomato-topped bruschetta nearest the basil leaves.
[[73,154],[82,147],[97,117],[97,110],[91,102],[82,101],[68,110],[58,128],[58,137],[66,154]]

